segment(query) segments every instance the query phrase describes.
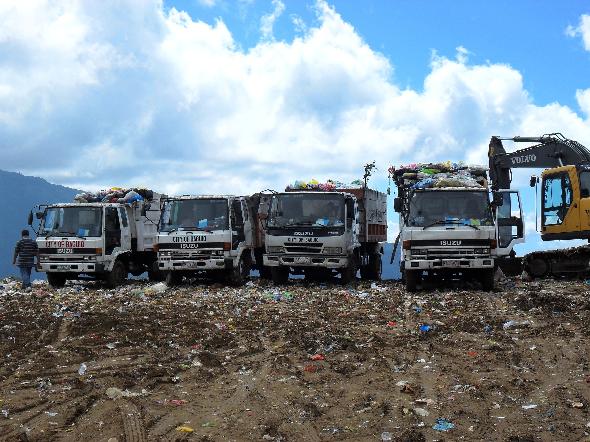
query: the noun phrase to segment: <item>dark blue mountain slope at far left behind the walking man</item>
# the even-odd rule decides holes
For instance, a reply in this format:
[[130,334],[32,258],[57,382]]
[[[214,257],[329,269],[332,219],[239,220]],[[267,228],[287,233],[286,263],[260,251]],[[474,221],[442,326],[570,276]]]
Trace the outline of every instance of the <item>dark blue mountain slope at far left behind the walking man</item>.
[[[42,178],[0,170],[0,278],[18,275],[12,266],[14,245],[21,238],[21,230],[29,229],[31,238],[35,232],[27,225],[31,208],[37,204],[71,203],[80,190],[50,184]],[[37,221],[37,220],[35,220]],[[44,279],[45,273],[33,272],[31,279]]]

